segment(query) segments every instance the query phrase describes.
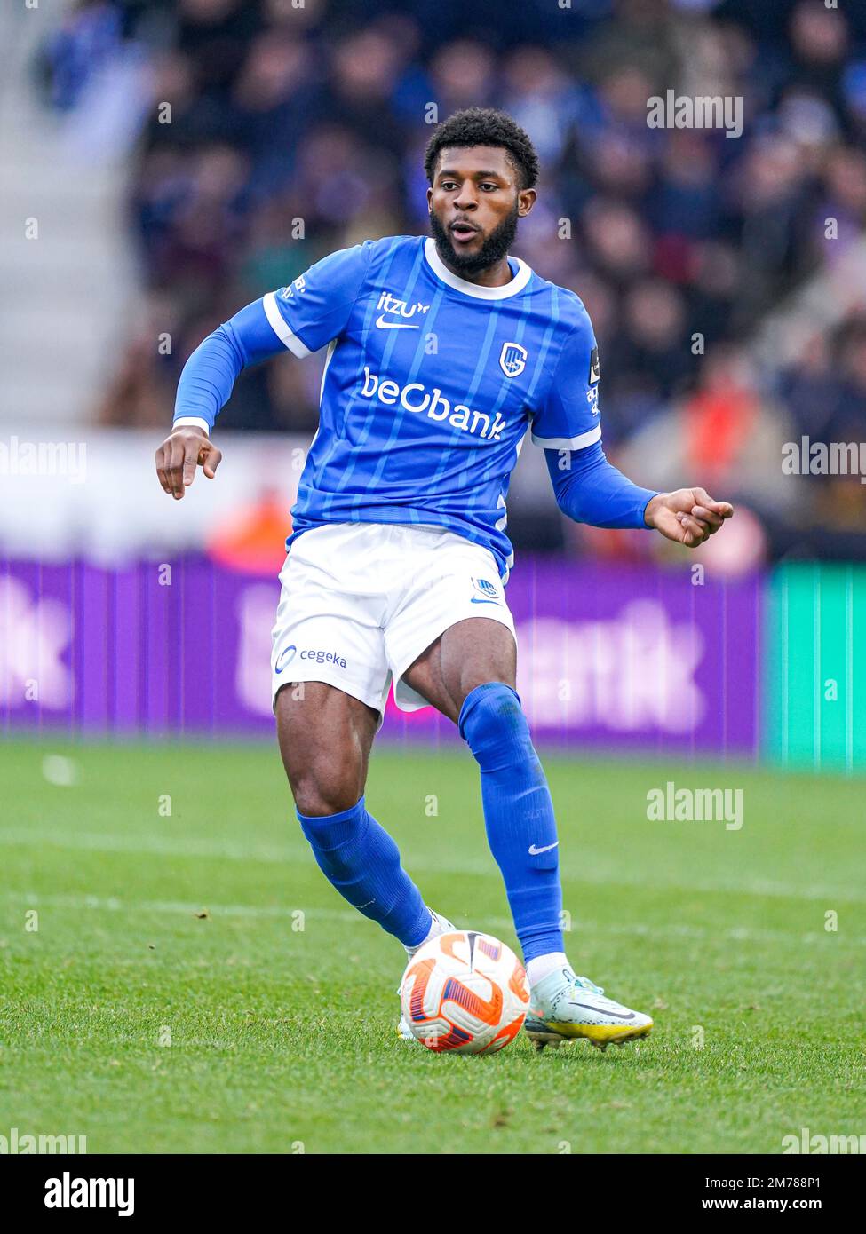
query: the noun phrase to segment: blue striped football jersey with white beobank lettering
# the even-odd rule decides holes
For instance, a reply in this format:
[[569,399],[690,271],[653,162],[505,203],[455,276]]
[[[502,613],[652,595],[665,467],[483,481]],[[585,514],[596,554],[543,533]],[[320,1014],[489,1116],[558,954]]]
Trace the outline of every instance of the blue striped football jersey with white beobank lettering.
[[294,355],[327,347],[293,534],[332,522],[446,527],[514,560],[505,499],[525,436],[599,441],[598,349],[581,300],[510,259],[481,288],[432,239],[367,241],[264,296]]

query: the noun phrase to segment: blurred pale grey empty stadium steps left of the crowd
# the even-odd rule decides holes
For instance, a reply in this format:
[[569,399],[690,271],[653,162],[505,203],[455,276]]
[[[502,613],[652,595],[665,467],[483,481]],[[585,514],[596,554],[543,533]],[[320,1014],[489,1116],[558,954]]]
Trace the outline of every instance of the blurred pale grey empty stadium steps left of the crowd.
[[[64,5],[4,6],[0,44],[0,431],[90,420],[138,301],[125,160],[83,160],[33,86],[33,56]],[[25,220],[38,238],[25,238]]]

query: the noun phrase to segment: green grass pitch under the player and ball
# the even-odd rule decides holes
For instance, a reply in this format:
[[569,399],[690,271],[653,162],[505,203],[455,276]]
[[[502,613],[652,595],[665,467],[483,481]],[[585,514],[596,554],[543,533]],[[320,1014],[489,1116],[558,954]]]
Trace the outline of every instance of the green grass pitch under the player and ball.
[[[47,754],[75,782],[46,779]],[[403,1045],[401,948],[316,869],[275,748],[4,743],[0,1134],[557,1154],[866,1133],[862,781],[542,756],[567,945],[654,1016],[637,1048]],[[647,821],[667,780],[742,789],[742,828]],[[515,945],[468,753],[382,747],[367,801],[429,903]]]

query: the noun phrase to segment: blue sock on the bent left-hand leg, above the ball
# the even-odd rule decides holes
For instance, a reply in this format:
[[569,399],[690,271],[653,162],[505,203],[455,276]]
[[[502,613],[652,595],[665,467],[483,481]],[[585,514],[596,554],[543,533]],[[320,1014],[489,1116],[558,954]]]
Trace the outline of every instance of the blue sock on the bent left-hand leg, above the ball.
[[397,844],[367,813],[364,798],[338,814],[296,813],[331,886],[404,946],[422,943],[430,930],[430,909],[401,868]]

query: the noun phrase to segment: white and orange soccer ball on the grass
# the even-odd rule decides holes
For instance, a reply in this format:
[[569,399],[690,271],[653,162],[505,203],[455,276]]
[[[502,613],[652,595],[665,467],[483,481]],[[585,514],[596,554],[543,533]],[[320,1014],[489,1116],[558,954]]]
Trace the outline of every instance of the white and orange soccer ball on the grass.
[[413,1037],[429,1050],[493,1054],[520,1032],[529,983],[523,964],[498,938],[453,930],[411,958],[400,1004]]

